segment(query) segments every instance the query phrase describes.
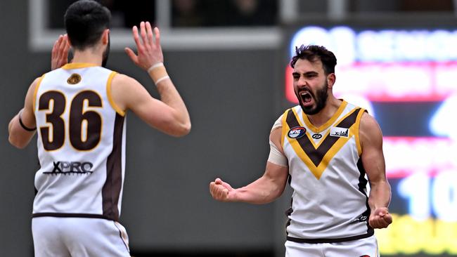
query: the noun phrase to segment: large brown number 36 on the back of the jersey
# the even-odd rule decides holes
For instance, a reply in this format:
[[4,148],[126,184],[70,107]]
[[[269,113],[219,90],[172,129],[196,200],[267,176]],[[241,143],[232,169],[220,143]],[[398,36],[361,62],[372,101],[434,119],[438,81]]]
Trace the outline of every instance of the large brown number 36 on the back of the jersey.
[[[82,91],[71,101],[68,120],[70,143],[77,150],[94,149],[101,138],[101,116],[97,112],[84,110],[87,107],[102,107],[100,96],[94,91]],[[52,107],[51,107],[52,103]],[[46,122],[51,126],[41,126],[41,140],[45,150],[57,150],[65,141],[65,95],[59,91],[47,91],[39,98],[38,110],[51,110],[46,113]],[[84,127],[84,128],[83,128]]]

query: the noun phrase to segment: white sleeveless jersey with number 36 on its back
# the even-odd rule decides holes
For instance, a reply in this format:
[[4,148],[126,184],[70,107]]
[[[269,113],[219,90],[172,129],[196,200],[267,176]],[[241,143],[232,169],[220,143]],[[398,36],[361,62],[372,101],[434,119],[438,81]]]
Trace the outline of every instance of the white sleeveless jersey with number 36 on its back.
[[124,183],[124,111],[112,101],[116,72],[71,63],[34,92],[38,157],[33,217],[118,220]]

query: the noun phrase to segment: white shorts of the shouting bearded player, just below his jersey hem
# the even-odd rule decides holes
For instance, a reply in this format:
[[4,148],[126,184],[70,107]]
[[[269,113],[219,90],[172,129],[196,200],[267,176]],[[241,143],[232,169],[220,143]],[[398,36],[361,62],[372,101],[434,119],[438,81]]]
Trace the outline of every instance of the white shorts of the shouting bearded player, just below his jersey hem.
[[379,257],[376,237],[340,243],[308,244],[285,242],[285,257]]

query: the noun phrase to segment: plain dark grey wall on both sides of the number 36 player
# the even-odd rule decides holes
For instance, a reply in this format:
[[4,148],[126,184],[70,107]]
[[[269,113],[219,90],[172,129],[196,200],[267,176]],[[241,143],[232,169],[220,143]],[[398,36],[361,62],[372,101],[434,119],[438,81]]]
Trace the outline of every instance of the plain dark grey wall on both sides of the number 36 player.
[[[0,249],[2,256],[32,256],[36,137],[25,150],[16,150],[8,143],[7,127],[30,83],[49,70],[50,53],[27,48],[27,1],[1,1],[0,6]],[[218,176],[234,187],[262,176],[269,131],[282,112],[280,56],[273,50],[165,51],[167,70],[191,113],[192,131],[172,138],[150,129],[133,113],[127,116],[121,219],[134,252],[268,256],[283,251],[287,200],[263,206],[225,204],[212,200],[208,190]],[[157,97],[146,72],[124,53],[113,51],[108,67],[135,77]]]

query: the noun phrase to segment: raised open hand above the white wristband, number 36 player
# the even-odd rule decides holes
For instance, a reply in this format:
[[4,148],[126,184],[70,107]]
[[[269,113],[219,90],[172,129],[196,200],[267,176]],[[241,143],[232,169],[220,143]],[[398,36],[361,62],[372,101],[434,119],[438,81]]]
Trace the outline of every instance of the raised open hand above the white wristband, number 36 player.
[[126,47],[124,50],[125,53],[129,55],[129,58],[143,70],[148,70],[157,62],[163,62],[159,29],[155,27],[153,32],[150,22],[141,22],[140,33],[138,32],[138,27],[136,26],[132,28],[132,31],[138,55],[136,55],[130,48]]

